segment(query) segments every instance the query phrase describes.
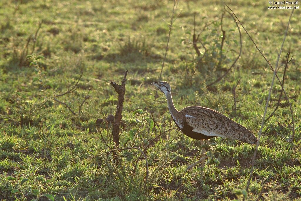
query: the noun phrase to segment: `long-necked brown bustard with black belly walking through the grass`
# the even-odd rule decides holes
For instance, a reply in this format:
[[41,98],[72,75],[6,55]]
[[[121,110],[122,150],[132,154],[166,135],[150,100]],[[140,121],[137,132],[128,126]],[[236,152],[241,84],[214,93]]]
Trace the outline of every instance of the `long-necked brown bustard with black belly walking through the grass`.
[[[172,100],[170,84],[166,81],[151,84],[165,94],[169,113],[178,129],[188,137],[201,140],[201,145],[203,140],[209,144],[209,139],[213,137],[224,137],[249,144],[257,143],[257,138],[250,130],[216,110],[202,106],[188,106],[178,111]],[[202,149],[202,158],[189,165],[186,171],[200,162],[203,167],[203,162],[207,158],[205,149]]]

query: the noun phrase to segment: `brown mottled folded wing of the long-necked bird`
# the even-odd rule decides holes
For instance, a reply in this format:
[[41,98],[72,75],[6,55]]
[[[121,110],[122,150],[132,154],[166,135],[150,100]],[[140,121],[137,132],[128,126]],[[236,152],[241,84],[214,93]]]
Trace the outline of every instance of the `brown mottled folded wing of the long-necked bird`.
[[186,107],[180,111],[193,131],[206,136],[225,137],[255,144],[257,138],[244,126],[210,108]]

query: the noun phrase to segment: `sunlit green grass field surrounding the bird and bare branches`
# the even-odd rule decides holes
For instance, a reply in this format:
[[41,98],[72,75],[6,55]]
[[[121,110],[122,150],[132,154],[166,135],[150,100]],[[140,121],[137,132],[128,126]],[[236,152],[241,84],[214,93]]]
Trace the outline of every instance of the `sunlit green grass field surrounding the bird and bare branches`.
[[[268,10],[268,1],[226,1],[256,44],[275,66],[291,10]],[[293,200],[301,199],[301,12],[294,11],[279,61],[292,61],[284,96],[264,124],[248,192],[255,146],[216,137],[204,169],[186,167],[201,155],[200,141],[175,129],[158,82],[173,1],[0,1],[0,199],[1,200]],[[182,12],[181,12],[182,11]],[[178,16],[178,14],[181,14]],[[179,1],[162,79],[172,86],[178,110],[213,108],[258,136],[273,73],[244,30],[240,37],[225,12],[221,49],[219,0]],[[193,48],[194,14],[199,62]],[[28,56],[30,55],[30,56]],[[220,62],[221,61],[221,62]],[[220,62],[220,65],[218,63]],[[116,166],[110,151],[117,93],[129,70]],[[82,71],[82,77],[80,77]],[[54,96],[72,88],[74,92]],[[236,87],[237,109],[232,88]],[[269,116],[281,86],[275,81]],[[87,100],[82,104],[83,100]],[[80,105],[82,106],[80,107]],[[133,111],[147,111],[133,116]],[[108,147],[109,146],[109,147]],[[147,148],[147,149],[146,149]],[[263,188],[263,189],[262,189]],[[261,196],[260,196],[261,195]]]

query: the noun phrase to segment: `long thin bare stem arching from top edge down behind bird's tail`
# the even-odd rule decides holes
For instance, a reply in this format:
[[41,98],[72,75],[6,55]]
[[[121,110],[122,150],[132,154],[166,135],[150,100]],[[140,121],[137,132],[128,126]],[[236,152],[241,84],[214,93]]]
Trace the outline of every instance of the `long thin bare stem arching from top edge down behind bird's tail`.
[[[262,53],[262,51],[258,48],[258,46],[256,45],[256,43],[254,42],[254,40],[253,40],[252,37],[250,36],[249,32],[245,29],[244,25],[240,22],[240,20],[239,20],[238,17],[235,15],[235,13],[231,10],[231,8],[229,8],[228,5],[225,4],[222,0],[220,0],[220,1],[221,1],[225,6],[227,6],[227,8],[234,14],[235,18],[236,18],[237,21],[238,21],[238,22],[236,22],[236,23],[240,24],[241,27],[243,27],[244,31],[245,31],[245,32],[247,33],[247,35],[249,36],[249,38],[251,39],[251,41],[252,41],[253,44],[255,45],[256,49],[260,52],[260,54],[262,55],[262,57],[265,59],[265,61],[266,61],[266,62],[268,63],[268,65],[269,65],[269,67],[270,67],[270,68],[272,69],[272,71],[274,72],[274,68],[273,68],[271,62],[268,60],[268,58],[265,57],[265,55]],[[292,13],[290,14],[290,18],[291,18],[291,16],[293,15],[293,12],[294,12],[294,9],[292,10]],[[289,20],[289,22],[290,22],[290,20]],[[288,28],[288,26],[289,26],[289,23],[288,23],[288,25],[287,25],[287,28]],[[287,31],[286,31],[286,32],[287,32]],[[281,53],[280,53],[280,54],[281,54]],[[292,105],[290,104],[290,100],[288,99],[288,96],[287,96],[287,94],[286,94],[286,91],[284,90],[284,87],[283,87],[283,85],[282,85],[282,83],[281,83],[281,81],[280,81],[280,79],[279,79],[277,73],[275,74],[275,76],[276,76],[278,82],[280,83],[281,88],[282,88],[282,90],[283,90],[283,93],[284,93],[284,95],[285,95],[285,98],[287,99],[287,102],[288,102],[288,104],[289,104],[289,106],[290,106],[290,114],[291,114],[291,117],[292,117],[292,124],[293,124],[293,127],[292,127],[293,135],[292,135],[292,137],[291,137],[291,139],[290,139],[290,142],[293,142],[293,140],[294,140],[294,135],[295,135],[295,124],[294,124],[294,118],[293,118],[293,109],[292,109]]]

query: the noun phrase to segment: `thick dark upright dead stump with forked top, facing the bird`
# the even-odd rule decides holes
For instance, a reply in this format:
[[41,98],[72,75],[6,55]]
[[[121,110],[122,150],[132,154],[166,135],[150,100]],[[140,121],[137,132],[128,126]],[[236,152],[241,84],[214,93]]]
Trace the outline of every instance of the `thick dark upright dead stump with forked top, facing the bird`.
[[[111,85],[114,87],[115,91],[118,93],[118,103],[116,106],[116,113],[115,113],[115,121],[113,124],[113,142],[114,147],[116,149],[119,149],[119,126],[122,119],[122,109],[123,109],[123,100],[124,100],[124,94],[126,92],[126,75],[129,71],[126,71],[122,80],[121,85],[116,84],[116,82],[111,81]],[[116,150],[114,149],[114,150]],[[116,159],[116,151],[113,152],[114,157]],[[116,160],[116,164],[118,164],[118,160]]]

